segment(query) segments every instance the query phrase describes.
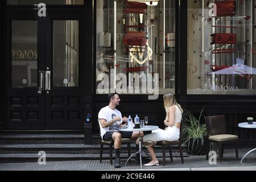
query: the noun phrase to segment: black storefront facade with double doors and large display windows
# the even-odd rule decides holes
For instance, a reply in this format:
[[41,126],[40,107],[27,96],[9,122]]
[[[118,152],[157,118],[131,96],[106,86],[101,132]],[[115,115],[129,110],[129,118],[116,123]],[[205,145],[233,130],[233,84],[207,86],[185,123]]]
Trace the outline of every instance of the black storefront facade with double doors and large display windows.
[[238,128],[256,118],[255,0],[213,2],[1,1],[2,128],[84,130],[89,142],[110,92],[123,115],[163,127],[172,92],[255,139]]

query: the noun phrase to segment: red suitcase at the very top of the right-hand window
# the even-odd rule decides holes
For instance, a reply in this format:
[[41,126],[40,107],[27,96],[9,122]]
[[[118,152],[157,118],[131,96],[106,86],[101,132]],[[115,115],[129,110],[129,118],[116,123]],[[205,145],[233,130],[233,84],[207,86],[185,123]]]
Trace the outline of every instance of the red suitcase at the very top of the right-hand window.
[[236,1],[226,0],[226,1],[216,1],[216,16],[234,16],[236,15]]

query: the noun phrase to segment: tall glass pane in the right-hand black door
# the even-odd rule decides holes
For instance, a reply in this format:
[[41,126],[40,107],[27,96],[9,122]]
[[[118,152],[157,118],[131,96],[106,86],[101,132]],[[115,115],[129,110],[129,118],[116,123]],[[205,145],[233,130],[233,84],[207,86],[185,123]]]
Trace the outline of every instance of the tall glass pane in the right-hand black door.
[[53,20],[53,86],[79,86],[79,20]]

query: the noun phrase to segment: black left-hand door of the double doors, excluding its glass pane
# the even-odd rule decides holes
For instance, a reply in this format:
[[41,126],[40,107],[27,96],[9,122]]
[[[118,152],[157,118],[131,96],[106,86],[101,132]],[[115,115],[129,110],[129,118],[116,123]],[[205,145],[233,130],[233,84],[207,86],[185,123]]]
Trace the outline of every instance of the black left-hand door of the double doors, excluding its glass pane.
[[[43,24],[44,24],[44,19],[39,18],[37,16],[37,11],[27,11],[23,9],[15,10],[15,11],[7,11],[6,13],[6,19],[5,19],[5,45],[6,45],[6,50],[3,54],[4,60],[5,61],[5,66],[4,66],[4,75],[6,75],[5,79],[5,93],[3,94],[3,97],[5,98],[4,102],[4,115],[5,115],[5,128],[6,129],[22,129],[22,130],[43,130],[44,127],[44,118],[45,114],[44,111],[43,113],[40,113],[39,111],[45,107],[44,104],[44,97],[37,95],[37,90],[38,87],[32,87],[32,88],[12,88],[12,57],[11,57],[11,51],[12,51],[12,28],[11,28],[11,20],[36,20],[37,21],[37,50],[38,50],[38,60],[37,60],[37,68],[40,70],[40,68],[44,67],[44,52],[45,52],[45,42],[44,42],[44,30],[43,30]],[[38,72],[36,73],[38,75]],[[39,85],[39,77],[37,79],[37,83]],[[20,90],[19,90],[20,89]],[[20,92],[20,96],[27,94],[27,96],[31,96],[31,98],[38,96],[38,107],[36,108],[31,107],[31,106],[25,106],[28,102],[24,97],[19,97],[21,105],[20,107],[26,107],[26,109],[21,109],[18,110],[18,107],[12,108],[13,111],[15,110],[16,112],[20,113],[22,119],[26,118],[27,116],[27,111],[30,110],[34,114],[37,113],[38,116],[38,121],[35,122],[33,119],[31,121],[26,120],[26,122],[20,122],[20,119],[13,119],[13,121],[10,122],[10,117],[11,113],[9,113],[9,110],[11,110],[11,104],[10,104],[10,97],[13,93],[15,92]],[[7,96],[7,97],[6,97]],[[23,104],[23,105],[22,105]],[[29,109],[28,109],[29,107]]]

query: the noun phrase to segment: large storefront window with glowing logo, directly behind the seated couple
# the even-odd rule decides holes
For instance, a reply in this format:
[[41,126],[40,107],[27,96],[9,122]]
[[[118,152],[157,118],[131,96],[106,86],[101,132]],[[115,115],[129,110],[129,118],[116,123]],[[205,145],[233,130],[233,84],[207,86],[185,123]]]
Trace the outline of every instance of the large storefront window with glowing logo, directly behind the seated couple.
[[175,0],[96,3],[96,93],[175,92]]

